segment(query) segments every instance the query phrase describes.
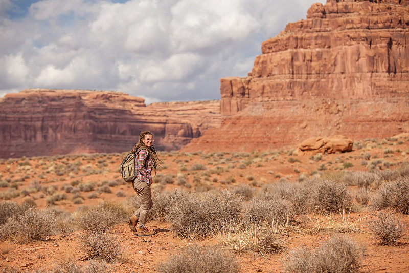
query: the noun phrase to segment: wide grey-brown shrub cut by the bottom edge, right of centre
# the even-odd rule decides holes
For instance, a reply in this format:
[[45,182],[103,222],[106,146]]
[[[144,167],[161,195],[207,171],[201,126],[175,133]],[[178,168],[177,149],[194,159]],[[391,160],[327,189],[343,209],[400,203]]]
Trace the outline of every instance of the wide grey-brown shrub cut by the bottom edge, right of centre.
[[304,272],[359,272],[365,249],[347,236],[334,236],[313,250],[305,247],[292,250],[287,255],[284,271]]

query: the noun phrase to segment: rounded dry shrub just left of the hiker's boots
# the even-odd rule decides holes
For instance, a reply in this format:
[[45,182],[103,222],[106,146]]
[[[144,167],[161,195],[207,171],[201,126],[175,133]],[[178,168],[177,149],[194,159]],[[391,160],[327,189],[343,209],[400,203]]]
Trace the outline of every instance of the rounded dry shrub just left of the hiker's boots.
[[88,232],[105,232],[119,222],[117,214],[104,208],[101,204],[83,207],[75,213],[74,218],[78,228]]

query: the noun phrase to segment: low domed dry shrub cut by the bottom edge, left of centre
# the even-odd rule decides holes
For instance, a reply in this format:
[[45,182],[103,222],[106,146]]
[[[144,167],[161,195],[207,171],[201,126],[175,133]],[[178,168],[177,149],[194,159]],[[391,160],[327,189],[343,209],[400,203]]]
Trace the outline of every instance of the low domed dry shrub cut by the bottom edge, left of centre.
[[191,245],[158,263],[160,273],[234,273],[240,271],[236,259],[222,249],[210,246]]

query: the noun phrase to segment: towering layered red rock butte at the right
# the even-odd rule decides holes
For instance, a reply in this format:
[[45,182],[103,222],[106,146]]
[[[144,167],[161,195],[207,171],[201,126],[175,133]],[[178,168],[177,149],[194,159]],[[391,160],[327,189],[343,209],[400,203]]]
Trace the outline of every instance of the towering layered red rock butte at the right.
[[262,43],[247,77],[222,78],[222,125],[184,151],[297,146],[313,136],[409,131],[409,1],[328,0]]

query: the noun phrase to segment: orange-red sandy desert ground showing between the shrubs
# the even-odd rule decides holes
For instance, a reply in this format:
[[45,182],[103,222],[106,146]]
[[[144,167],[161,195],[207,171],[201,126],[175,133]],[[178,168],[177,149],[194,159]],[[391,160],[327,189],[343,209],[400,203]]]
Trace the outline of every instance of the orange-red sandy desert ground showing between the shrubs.
[[[358,149],[359,148],[359,149]],[[164,168],[158,174],[184,175],[186,177],[185,188],[189,191],[203,188],[226,188],[239,184],[249,184],[259,190],[263,184],[275,183],[279,179],[294,181],[300,174],[304,176],[330,176],[341,171],[368,171],[371,162],[378,160],[378,169],[395,169],[408,162],[409,140],[384,139],[360,141],[354,146],[354,150],[345,154],[323,155],[321,160],[315,161],[311,155],[291,154],[291,151],[268,151],[260,154],[183,154],[162,153]],[[365,159],[370,154],[370,159]],[[118,165],[124,155],[119,154],[95,154],[95,155],[71,155],[39,158],[20,158],[0,161],[1,181],[7,181],[7,187],[0,187],[3,199],[10,189],[19,191],[20,195],[10,200],[23,202],[30,198],[39,208],[50,206],[46,203],[48,194],[44,190],[34,191],[35,184],[42,188],[56,186],[57,193],[65,193],[63,185],[77,183],[94,183],[95,189],[91,192],[80,192],[83,202],[74,204],[73,194],[65,193],[64,200],[56,201],[54,206],[68,212],[74,212],[79,206],[94,205],[103,200],[122,202],[127,197],[133,196],[134,192],[129,184],[118,183],[121,181],[118,174]],[[291,159],[290,159],[291,158]],[[295,159],[295,160],[294,160]],[[251,162],[250,162],[251,161]],[[28,162],[28,163],[27,163]],[[244,166],[248,163],[248,165]],[[292,162],[292,163],[291,163]],[[367,164],[364,164],[364,163]],[[346,164],[348,163],[348,164]],[[351,163],[351,164],[349,164]],[[78,165],[78,170],[67,170],[68,166]],[[206,170],[192,170],[195,164],[205,166],[206,170],[222,167],[223,172],[213,173],[209,177],[203,176]],[[353,166],[351,166],[353,165]],[[346,166],[349,166],[345,168]],[[193,168],[194,169],[194,168]],[[99,173],[90,173],[87,170],[100,170]],[[24,178],[24,179],[22,179]],[[160,176],[157,176],[157,179]],[[117,185],[109,186],[111,193],[96,192],[99,186],[108,185],[109,182],[117,181]],[[156,190],[171,190],[179,187],[177,178],[173,183],[160,183],[156,181],[153,188]],[[186,185],[188,187],[186,187]],[[190,187],[189,187],[190,185]],[[24,191],[26,190],[26,191]],[[351,191],[354,189],[352,188]],[[117,195],[122,191],[125,196]],[[28,194],[27,194],[28,192]],[[89,193],[95,192],[97,198],[88,198]],[[26,195],[27,196],[22,196]],[[351,221],[357,221],[370,215],[368,208],[362,207],[358,212],[350,214]],[[402,220],[409,224],[407,215],[400,215]],[[306,216],[300,216],[306,224],[311,225]],[[313,219],[313,215],[309,215]],[[117,225],[113,233],[118,240],[126,246],[126,254],[129,263],[109,263],[108,266],[115,272],[155,272],[155,265],[165,261],[169,255],[185,247],[184,243],[173,236],[171,226],[168,223],[150,222],[148,227],[158,233],[151,237],[141,238],[134,236],[126,224]],[[365,229],[365,228],[363,228]],[[53,235],[47,241],[37,241],[27,245],[19,245],[10,241],[0,240],[0,249],[3,257],[0,258],[0,270],[33,271],[41,269],[49,271],[56,264],[68,257],[79,259],[84,253],[79,250],[76,231],[70,236],[63,237],[61,234]],[[288,243],[285,245],[289,250],[299,246],[314,248],[333,235],[332,232],[321,233],[289,233]],[[378,244],[369,233],[350,233],[349,236],[366,247],[365,263],[366,271],[372,272],[407,272],[409,271],[409,236],[406,230],[405,236],[394,246]],[[199,241],[199,244],[217,244],[215,239]],[[253,253],[235,254],[240,261],[242,272],[282,272],[282,261],[285,252],[268,256],[266,259]],[[78,261],[86,264],[86,261]],[[28,265],[28,266],[26,266]]]

